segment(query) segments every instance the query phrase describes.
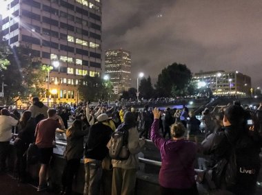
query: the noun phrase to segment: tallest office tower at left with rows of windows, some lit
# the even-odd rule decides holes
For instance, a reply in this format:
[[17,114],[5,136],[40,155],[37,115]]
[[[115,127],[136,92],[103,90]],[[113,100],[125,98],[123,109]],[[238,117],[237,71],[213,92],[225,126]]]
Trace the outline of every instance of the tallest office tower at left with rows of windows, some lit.
[[45,86],[57,90],[57,102],[78,102],[79,80],[101,74],[101,0],[8,0],[2,34],[41,65],[59,62]]

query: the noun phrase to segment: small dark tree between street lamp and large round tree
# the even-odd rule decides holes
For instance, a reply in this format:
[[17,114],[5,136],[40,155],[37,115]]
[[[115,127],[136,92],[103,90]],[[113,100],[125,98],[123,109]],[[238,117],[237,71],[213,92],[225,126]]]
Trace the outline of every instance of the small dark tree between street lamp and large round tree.
[[152,98],[153,93],[154,89],[152,87],[150,76],[148,76],[148,79],[142,78],[139,85],[139,96],[149,100]]

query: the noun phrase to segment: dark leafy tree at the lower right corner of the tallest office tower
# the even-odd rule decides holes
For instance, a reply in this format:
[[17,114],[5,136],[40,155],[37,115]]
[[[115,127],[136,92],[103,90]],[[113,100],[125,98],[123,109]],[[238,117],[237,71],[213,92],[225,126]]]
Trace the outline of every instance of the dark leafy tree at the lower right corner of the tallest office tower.
[[102,98],[103,93],[105,93],[103,81],[98,75],[94,77],[86,75],[80,80],[79,95],[82,100],[97,101]]

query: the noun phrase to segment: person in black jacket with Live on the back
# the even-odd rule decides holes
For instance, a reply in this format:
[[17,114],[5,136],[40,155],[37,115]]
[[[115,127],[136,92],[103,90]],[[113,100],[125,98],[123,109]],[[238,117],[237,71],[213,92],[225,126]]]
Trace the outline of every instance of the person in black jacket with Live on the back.
[[[212,133],[201,144],[204,154],[210,155],[208,167],[213,168],[214,165],[219,163],[222,159],[230,161],[232,156],[232,148],[234,147],[236,154],[236,181],[234,185],[228,185],[226,182],[225,171],[217,178],[214,176],[216,187],[219,188],[219,193],[232,193],[232,194],[255,194],[256,181],[260,170],[259,153],[261,144],[256,142],[250,136],[248,130],[245,128],[245,111],[239,105],[229,106],[224,113],[223,126],[224,129]],[[247,158],[248,157],[248,158]],[[238,168],[238,163],[248,161],[248,166],[245,168]],[[252,172],[244,172],[243,170],[250,170]],[[248,168],[249,167],[249,168]]]

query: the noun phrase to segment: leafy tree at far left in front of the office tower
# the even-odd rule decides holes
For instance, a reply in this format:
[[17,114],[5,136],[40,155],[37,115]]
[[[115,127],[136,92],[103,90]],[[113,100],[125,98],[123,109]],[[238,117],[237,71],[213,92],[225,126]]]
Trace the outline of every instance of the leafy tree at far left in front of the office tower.
[[3,104],[28,100],[30,95],[43,95],[43,75],[40,62],[30,47],[13,47],[6,59],[10,64],[1,69],[0,82],[4,84]]

